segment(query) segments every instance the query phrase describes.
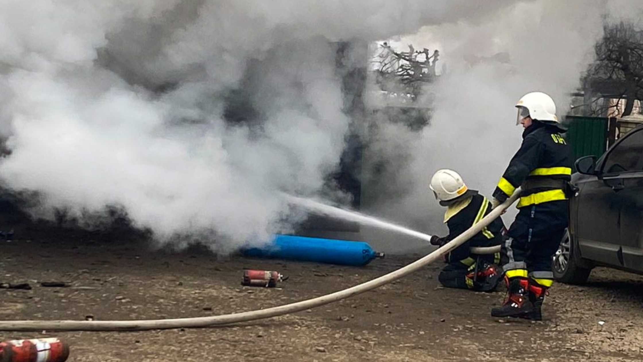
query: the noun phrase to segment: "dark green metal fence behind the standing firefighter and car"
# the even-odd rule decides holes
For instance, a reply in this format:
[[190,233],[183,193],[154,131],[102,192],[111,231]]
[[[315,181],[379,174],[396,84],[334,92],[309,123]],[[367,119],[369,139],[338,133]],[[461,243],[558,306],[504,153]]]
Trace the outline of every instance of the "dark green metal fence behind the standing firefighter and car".
[[574,161],[583,156],[601,157],[606,151],[609,138],[607,118],[567,116],[565,123],[568,125],[565,138],[572,146]]

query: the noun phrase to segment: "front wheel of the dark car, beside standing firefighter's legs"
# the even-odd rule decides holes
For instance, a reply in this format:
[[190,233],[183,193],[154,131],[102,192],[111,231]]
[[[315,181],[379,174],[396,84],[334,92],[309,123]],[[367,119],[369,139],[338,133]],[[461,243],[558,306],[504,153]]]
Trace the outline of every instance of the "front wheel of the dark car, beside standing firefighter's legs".
[[579,266],[579,256],[575,251],[575,247],[574,236],[567,229],[552,261],[552,271],[557,281],[568,284],[583,284],[589,278],[592,269]]

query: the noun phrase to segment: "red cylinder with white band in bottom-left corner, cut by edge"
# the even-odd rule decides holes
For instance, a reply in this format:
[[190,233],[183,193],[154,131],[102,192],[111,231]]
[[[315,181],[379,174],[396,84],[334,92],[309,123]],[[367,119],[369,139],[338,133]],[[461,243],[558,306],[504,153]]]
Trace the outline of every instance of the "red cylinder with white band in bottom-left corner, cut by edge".
[[58,338],[15,339],[0,343],[0,362],[65,362],[69,345]]

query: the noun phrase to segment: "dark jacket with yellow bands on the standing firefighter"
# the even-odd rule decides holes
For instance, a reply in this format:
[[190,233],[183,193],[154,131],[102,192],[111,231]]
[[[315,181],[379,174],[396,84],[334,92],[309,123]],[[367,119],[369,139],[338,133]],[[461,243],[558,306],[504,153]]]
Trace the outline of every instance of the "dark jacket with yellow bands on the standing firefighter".
[[556,126],[538,121],[525,129],[522,145],[511,158],[493,197],[503,202],[522,186],[518,208],[566,200],[572,150],[561,132]]

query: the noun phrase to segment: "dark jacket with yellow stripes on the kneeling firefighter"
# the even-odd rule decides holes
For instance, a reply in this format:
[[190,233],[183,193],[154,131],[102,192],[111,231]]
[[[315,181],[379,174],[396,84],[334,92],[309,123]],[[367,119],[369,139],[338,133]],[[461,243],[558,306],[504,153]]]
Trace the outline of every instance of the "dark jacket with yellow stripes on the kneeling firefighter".
[[[482,195],[476,194],[471,196],[471,201],[462,201],[463,204],[449,206],[445,215],[446,224],[449,227],[449,235],[444,238],[445,242],[455,239],[458,235],[464,233],[469,227],[478,224],[484,216],[491,212],[491,202]],[[467,203],[464,208],[461,208]],[[502,230],[505,225],[501,218],[497,218],[480,233],[475,234],[473,238],[449,252],[448,262],[462,262],[464,264],[473,264],[475,260],[469,258],[469,247],[489,247],[500,245],[502,243]],[[470,260],[469,260],[470,259]],[[467,265],[468,266],[468,265]]]

